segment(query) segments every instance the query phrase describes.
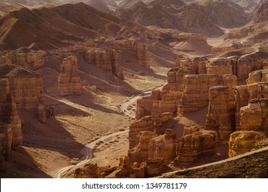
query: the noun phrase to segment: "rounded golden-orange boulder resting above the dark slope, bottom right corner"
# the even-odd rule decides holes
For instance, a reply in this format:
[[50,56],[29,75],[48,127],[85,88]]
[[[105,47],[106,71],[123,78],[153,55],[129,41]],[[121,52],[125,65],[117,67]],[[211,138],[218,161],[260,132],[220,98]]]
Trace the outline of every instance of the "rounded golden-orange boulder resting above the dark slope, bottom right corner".
[[267,136],[256,131],[237,131],[231,134],[229,141],[229,157],[238,156],[253,149],[258,149],[260,141],[265,141]]

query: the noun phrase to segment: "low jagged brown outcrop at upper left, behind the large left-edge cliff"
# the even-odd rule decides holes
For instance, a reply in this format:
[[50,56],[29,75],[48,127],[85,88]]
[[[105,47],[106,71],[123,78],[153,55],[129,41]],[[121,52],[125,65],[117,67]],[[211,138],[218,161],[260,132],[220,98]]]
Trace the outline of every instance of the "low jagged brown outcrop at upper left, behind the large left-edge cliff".
[[45,56],[45,51],[34,51],[27,47],[22,47],[16,51],[8,53],[8,58],[10,58],[12,64],[21,65],[22,67],[32,70],[44,66],[45,60],[43,59],[43,56]]

